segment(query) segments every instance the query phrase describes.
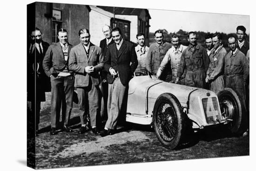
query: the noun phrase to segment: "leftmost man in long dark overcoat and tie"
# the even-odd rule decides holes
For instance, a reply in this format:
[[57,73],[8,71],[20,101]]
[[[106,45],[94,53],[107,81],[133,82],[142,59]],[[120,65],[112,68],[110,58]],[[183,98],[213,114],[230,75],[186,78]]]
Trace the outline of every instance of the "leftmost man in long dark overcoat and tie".
[[42,32],[37,27],[30,33],[29,40],[27,51],[27,101],[31,101],[32,118],[34,118],[35,114],[36,121],[35,135],[38,136],[40,104],[45,101],[45,92],[50,91],[50,80],[47,78],[42,66],[49,44],[42,40]]

